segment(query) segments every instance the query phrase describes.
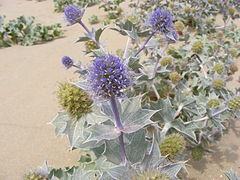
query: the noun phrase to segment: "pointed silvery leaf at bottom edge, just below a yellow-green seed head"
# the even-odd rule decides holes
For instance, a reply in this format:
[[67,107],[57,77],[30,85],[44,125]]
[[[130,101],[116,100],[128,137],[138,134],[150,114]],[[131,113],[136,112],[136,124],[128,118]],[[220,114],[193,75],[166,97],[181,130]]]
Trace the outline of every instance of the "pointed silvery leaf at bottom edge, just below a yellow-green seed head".
[[178,179],[177,174],[182,168],[185,168],[186,162],[177,162],[162,166],[159,170],[166,173],[171,179]]

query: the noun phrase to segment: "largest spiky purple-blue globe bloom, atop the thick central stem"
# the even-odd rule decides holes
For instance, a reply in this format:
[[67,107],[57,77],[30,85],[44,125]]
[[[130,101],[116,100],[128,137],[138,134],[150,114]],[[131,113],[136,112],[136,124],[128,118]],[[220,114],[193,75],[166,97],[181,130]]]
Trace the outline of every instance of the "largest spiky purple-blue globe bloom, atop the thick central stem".
[[131,80],[122,59],[106,55],[93,60],[88,82],[96,96],[108,99],[111,96],[122,97]]

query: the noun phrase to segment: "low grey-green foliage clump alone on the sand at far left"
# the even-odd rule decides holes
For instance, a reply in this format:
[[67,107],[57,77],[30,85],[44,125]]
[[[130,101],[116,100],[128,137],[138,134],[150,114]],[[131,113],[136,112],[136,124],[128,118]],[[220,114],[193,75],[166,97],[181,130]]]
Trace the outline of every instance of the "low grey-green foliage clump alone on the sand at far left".
[[0,16],[0,48],[11,44],[30,46],[44,41],[51,41],[62,35],[60,24],[44,26],[34,23],[34,17],[20,16],[15,20],[4,23]]

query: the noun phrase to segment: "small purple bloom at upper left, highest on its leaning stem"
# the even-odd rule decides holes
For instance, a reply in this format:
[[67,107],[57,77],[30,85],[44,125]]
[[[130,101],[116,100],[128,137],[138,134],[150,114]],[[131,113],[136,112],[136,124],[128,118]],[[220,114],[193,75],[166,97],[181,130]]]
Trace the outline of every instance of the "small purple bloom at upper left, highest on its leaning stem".
[[78,8],[77,6],[66,6],[64,8],[65,18],[70,25],[78,23],[82,19],[84,11],[84,8]]

